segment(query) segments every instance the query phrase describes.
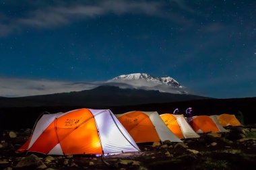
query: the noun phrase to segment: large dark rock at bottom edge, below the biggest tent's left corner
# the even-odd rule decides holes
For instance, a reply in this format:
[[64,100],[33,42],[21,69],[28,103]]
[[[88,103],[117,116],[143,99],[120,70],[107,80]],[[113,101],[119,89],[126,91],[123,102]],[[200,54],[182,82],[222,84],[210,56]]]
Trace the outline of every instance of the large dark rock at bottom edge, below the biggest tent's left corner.
[[19,161],[15,167],[36,167],[38,169],[45,169],[46,165],[34,154],[29,155],[22,161]]

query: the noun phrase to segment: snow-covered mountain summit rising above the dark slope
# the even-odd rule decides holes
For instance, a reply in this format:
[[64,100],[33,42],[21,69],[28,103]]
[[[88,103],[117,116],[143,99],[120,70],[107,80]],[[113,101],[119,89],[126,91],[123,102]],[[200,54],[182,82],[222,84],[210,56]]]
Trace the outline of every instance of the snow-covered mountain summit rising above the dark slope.
[[[120,75],[106,83],[115,83],[115,86],[123,88],[135,88],[146,90],[158,90],[167,93],[186,94],[187,92],[178,81],[171,77],[153,77],[146,73],[133,73],[129,75]],[[122,83],[122,84],[118,84]],[[129,85],[130,87],[127,87]]]

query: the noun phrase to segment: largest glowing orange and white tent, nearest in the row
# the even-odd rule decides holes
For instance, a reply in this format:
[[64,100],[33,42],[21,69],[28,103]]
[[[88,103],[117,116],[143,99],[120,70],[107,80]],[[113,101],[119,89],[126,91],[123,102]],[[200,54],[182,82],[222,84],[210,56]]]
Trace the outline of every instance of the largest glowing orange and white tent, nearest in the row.
[[30,140],[18,151],[104,155],[136,152],[139,148],[110,110],[79,109],[44,114]]

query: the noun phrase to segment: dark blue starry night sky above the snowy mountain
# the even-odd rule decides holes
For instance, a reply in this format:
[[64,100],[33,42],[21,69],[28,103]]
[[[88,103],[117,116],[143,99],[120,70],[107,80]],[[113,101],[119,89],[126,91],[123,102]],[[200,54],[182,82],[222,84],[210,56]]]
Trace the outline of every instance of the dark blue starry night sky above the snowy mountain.
[[256,1],[0,1],[0,77],[129,73],[168,75],[209,97],[255,97]]

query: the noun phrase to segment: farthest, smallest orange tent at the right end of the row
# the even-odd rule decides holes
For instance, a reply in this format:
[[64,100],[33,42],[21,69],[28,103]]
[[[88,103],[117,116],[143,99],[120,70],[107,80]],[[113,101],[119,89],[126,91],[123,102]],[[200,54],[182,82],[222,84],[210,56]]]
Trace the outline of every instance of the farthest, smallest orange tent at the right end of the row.
[[242,126],[239,120],[236,119],[234,114],[220,114],[213,115],[211,117],[215,117],[216,120],[220,123],[221,126]]

